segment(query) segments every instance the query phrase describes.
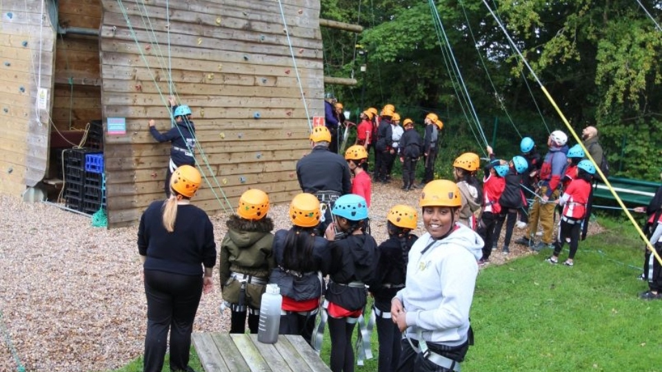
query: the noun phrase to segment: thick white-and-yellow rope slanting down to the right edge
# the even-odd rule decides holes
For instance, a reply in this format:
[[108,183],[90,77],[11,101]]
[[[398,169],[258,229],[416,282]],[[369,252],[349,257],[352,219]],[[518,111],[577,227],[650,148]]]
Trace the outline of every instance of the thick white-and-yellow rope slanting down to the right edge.
[[510,37],[510,34],[508,34],[508,30],[505,29],[505,26],[503,25],[503,23],[501,23],[501,21],[496,17],[496,14],[494,14],[494,12],[492,11],[492,8],[490,8],[490,4],[488,4],[487,0],[483,0],[483,3],[488,8],[488,11],[490,12],[490,14],[492,14],[492,17],[494,17],[494,20],[499,25],[499,28],[501,28],[501,31],[503,31],[503,34],[505,35],[506,39],[508,39],[508,42],[510,43],[510,46],[517,52],[517,54],[519,54],[519,57],[521,58],[524,65],[526,65],[526,67],[531,72],[532,76],[534,76],[534,78],[536,79],[536,82],[540,85],[541,90],[543,90],[543,93],[545,94],[545,96],[547,96],[547,99],[550,101],[550,103],[554,107],[554,110],[556,110],[556,113],[558,113],[559,116],[561,116],[561,120],[563,121],[563,123],[565,123],[565,127],[568,128],[568,131],[570,132],[570,134],[572,134],[572,137],[575,139],[575,141],[577,141],[577,144],[579,144],[581,146],[581,148],[584,151],[585,156],[588,158],[588,160],[591,161],[591,163],[595,167],[596,172],[598,172],[598,174],[602,177],[605,185],[607,185],[607,188],[609,189],[609,191],[614,196],[614,199],[616,199],[616,202],[619,203],[619,205],[621,206],[621,209],[623,209],[623,211],[625,212],[625,215],[628,216],[628,219],[630,220],[630,223],[632,223],[632,226],[634,226],[634,229],[636,229],[637,233],[639,233],[639,236],[641,236],[641,239],[646,243],[646,247],[648,248],[648,250],[650,250],[651,254],[654,255],[656,260],[658,260],[658,262],[660,262],[660,265],[662,265],[662,258],[660,257],[659,254],[657,254],[657,251],[650,244],[650,242],[648,241],[648,238],[646,238],[645,234],[643,234],[643,231],[641,231],[641,228],[639,227],[639,224],[636,223],[636,221],[634,220],[634,217],[632,216],[632,214],[630,213],[628,208],[625,207],[625,204],[623,203],[623,200],[621,200],[621,197],[618,194],[616,194],[616,190],[614,190],[614,187],[612,187],[612,184],[609,182],[608,178],[605,177],[605,174],[603,174],[602,170],[598,166],[598,163],[596,163],[594,158],[591,156],[590,152],[588,152],[588,149],[582,143],[581,138],[576,134],[576,132],[574,132],[574,129],[572,128],[572,126],[568,122],[568,119],[565,118],[565,115],[563,114],[563,112],[559,108],[559,105],[556,105],[556,101],[554,101],[554,99],[552,98],[552,95],[547,91],[547,88],[545,88],[545,85],[543,85],[543,83],[540,81],[540,79],[538,79],[538,76],[536,75],[534,70],[531,68],[531,65],[529,65],[528,61],[524,58],[524,56],[522,55],[522,52],[519,50],[517,45],[514,43],[514,41]]

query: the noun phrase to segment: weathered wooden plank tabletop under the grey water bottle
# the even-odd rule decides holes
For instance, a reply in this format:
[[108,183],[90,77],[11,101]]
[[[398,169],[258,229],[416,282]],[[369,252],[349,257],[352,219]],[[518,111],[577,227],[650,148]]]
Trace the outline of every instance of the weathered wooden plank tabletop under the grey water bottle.
[[192,341],[207,372],[331,371],[300,335],[263,344],[254,334],[193,333]]

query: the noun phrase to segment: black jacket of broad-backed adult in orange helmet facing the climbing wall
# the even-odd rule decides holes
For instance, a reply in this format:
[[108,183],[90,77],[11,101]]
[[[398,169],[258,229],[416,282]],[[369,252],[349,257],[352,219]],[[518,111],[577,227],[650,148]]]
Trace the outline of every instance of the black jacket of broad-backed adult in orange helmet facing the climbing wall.
[[303,192],[352,192],[350,167],[345,158],[330,152],[328,147],[315,146],[310,154],[297,162],[297,178]]

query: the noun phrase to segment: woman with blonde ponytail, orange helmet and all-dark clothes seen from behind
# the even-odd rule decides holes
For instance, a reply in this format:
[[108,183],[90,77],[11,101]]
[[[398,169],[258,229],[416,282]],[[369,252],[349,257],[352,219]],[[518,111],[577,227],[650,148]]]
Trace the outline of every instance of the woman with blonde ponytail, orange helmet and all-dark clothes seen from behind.
[[138,253],[143,262],[148,319],[146,372],[163,368],[168,332],[170,370],[191,371],[193,321],[202,293],[212,290],[216,263],[214,227],[205,211],[190,205],[200,181],[194,167],[175,169],[170,198],[165,203],[155,201],[140,218]]

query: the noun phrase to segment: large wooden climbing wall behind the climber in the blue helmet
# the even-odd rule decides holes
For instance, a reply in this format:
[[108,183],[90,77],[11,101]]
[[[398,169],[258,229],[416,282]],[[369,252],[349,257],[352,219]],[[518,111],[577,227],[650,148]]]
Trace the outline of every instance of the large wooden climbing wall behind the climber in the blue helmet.
[[249,188],[273,203],[300,192],[295,165],[324,108],[319,0],[101,3],[103,116],[126,121],[126,134],[106,134],[110,227],[136,223],[164,197],[170,144],[154,141],[148,120],[170,129],[171,87],[192,108],[208,179],[196,205],[222,210],[225,194],[234,208]]

